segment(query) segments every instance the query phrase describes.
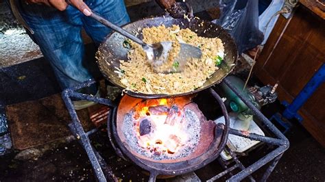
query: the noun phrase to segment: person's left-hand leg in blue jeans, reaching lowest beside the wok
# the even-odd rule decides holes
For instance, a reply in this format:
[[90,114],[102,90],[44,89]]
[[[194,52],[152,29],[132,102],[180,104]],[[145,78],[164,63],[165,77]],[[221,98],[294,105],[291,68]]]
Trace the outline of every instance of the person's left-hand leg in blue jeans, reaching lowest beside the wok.
[[92,78],[84,64],[80,34],[83,14],[71,6],[60,12],[46,5],[27,5],[23,1],[21,14],[34,31],[32,37],[51,63],[62,89]]

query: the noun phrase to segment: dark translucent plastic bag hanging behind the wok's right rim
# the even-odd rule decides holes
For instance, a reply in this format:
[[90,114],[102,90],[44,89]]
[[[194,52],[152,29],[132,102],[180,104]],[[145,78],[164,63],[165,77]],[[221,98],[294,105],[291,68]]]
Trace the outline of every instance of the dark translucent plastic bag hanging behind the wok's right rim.
[[234,38],[239,53],[252,49],[263,41],[258,29],[258,1],[219,0],[221,16],[214,20]]

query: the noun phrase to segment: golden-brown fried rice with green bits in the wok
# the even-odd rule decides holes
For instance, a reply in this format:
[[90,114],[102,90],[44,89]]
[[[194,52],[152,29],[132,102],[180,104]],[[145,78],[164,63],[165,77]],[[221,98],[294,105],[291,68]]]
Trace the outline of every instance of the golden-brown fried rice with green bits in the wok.
[[[156,73],[147,61],[147,55],[139,44],[125,40],[123,46],[131,47],[128,61],[120,61],[120,67],[115,71],[119,74],[125,90],[145,94],[180,94],[200,88],[210,77],[224,58],[224,45],[219,38],[204,38],[197,36],[190,29],[180,29],[178,25],[165,27],[150,27],[143,29],[143,41],[185,42],[202,50],[201,59],[188,60],[181,73]],[[172,49],[173,51],[173,49]],[[177,53],[177,46],[174,53]],[[172,56],[171,56],[172,57]],[[178,62],[169,62],[171,68]]]

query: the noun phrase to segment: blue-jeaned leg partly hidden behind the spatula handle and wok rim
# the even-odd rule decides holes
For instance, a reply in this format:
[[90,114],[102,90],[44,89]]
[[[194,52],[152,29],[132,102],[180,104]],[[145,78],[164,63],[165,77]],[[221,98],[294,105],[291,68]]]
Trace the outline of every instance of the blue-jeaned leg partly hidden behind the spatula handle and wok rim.
[[[123,0],[88,0],[85,2],[93,12],[112,23],[121,26],[130,22]],[[82,16],[82,20],[88,36],[91,36],[97,46],[110,34],[111,29],[93,20],[93,18]]]

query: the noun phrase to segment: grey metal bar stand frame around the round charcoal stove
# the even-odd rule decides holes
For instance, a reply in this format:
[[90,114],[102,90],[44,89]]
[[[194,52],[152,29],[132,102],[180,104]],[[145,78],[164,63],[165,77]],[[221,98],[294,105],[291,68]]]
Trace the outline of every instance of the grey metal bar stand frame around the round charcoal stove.
[[[69,114],[72,118],[72,122],[69,125],[71,132],[73,135],[75,135],[75,138],[77,138],[82,144],[84,150],[86,151],[89,160],[91,161],[91,164],[93,166],[94,173],[98,179],[98,181],[117,181],[117,177],[112,173],[112,170],[110,169],[110,166],[106,164],[104,159],[99,155],[99,153],[91,146],[91,141],[88,138],[88,135],[93,133],[94,131],[90,131],[86,133],[81,125],[81,122],[79,118],[77,117],[77,113],[75,112],[75,109],[73,109],[73,103],[71,101],[71,98],[77,99],[77,100],[86,100],[86,101],[93,101],[95,103],[100,103],[103,105],[108,105],[110,109],[112,109],[112,112],[115,112],[117,109],[117,104],[113,103],[109,99],[104,98],[97,98],[95,96],[87,95],[87,94],[80,94],[79,92],[75,92],[75,90],[79,90],[80,88],[84,88],[86,86],[90,86],[91,84],[95,83],[95,81],[90,80],[86,83],[82,83],[79,86],[75,86],[73,88],[68,88],[67,90],[64,90],[62,92],[62,99],[64,100],[64,103],[67,105],[67,109],[69,111]],[[228,181],[240,181],[244,179],[245,177],[249,177],[251,181],[254,181],[254,179],[250,176],[253,172],[261,168],[262,166],[265,166],[269,162],[270,165],[265,171],[263,178],[261,181],[266,181],[266,179],[269,177],[269,174],[274,170],[276,167],[276,164],[278,164],[279,159],[282,157],[282,154],[289,148],[289,141],[287,138],[285,138],[285,135],[283,135],[273,124],[270,122],[248,99],[245,99],[245,96],[241,94],[240,90],[237,90],[237,88],[234,88],[232,86],[232,83],[226,78],[224,79],[224,83],[235,93],[239,98],[245,103],[250,109],[252,109],[252,112],[254,113],[254,116],[258,118],[258,120],[261,120],[265,124],[265,126],[274,133],[276,138],[270,138],[263,135],[257,135],[256,133],[248,133],[247,131],[239,131],[236,129],[230,129],[230,134],[233,135],[239,135],[244,138],[250,138],[252,140],[258,140],[261,142],[265,142],[267,144],[272,144],[274,146],[278,146],[274,151],[271,151],[261,159],[258,159],[254,164],[245,167],[243,164],[241,164],[241,161],[237,158],[237,155],[233,153],[230,148],[226,147],[226,151],[230,153],[232,156],[232,159],[234,159],[235,164],[234,166],[228,167],[221,162],[221,166],[225,168],[223,172],[220,172],[215,177],[210,179],[209,181],[214,181],[219,179],[220,177],[224,176],[225,174],[230,174],[230,179]],[[211,94],[214,94],[213,90],[210,89]],[[110,114],[112,113],[110,112]],[[110,119],[110,116],[108,117]],[[115,146],[114,146],[115,147]],[[119,151],[119,150],[116,150]],[[218,159],[221,161],[220,157]],[[240,168],[241,171],[237,174],[232,174],[233,170],[236,168]]]

